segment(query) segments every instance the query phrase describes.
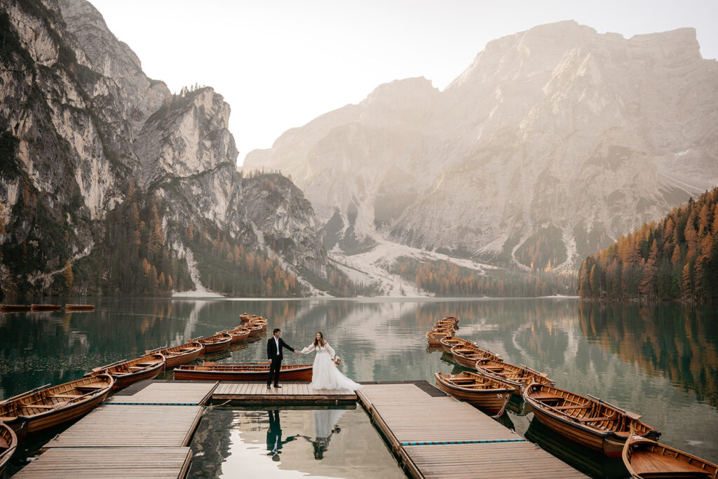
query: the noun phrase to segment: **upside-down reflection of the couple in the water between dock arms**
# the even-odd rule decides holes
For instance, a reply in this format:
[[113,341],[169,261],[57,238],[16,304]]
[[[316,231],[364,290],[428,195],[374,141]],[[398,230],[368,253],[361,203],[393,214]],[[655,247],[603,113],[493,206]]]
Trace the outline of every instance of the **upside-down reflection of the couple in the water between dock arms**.
[[281,449],[288,442],[292,442],[299,438],[306,440],[312,444],[314,449],[314,459],[322,460],[324,453],[329,449],[331,437],[339,434],[341,429],[337,426],[339,418],[346,412],[345,409],[314,409],[312,411],[312,419],[314,419],[314,439],[303,434],[294,434],[282,439],[281,422],[279,419],[279,410],[270,409],[269,429],[267,430],[267,455],[274,461],[279,461]]

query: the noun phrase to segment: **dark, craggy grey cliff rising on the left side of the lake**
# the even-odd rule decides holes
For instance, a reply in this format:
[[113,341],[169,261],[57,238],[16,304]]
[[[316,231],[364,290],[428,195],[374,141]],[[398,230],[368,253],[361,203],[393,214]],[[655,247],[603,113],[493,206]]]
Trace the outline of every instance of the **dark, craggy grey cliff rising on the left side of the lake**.
[[[5,294],[135,292],[111,284],[118,273],[107,265],[127,270],[131,285],[143,259],[155,288],[143,291],[171,291],[188,277],[177,265],[189,243],[210,235],[200,272],[212,274],[201,264],[210,257],[246,266],[224,251],[233,246],[276,264],[274,279],[298,269],[327,276],[311,205],[280,175],[237,171],[230,108],[212,88],[177,96],[147,78],[83,0],[0,0],[0,45]],[[264,276],[252,294],[273,294]]]

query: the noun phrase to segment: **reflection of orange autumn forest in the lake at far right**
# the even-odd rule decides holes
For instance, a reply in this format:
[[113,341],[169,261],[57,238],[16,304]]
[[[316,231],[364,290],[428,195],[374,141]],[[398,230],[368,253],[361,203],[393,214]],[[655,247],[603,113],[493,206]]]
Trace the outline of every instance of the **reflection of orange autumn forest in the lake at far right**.
[[718,406],[718,322],[714,307],[579,303],[581,329],[626,363],[664,376]]

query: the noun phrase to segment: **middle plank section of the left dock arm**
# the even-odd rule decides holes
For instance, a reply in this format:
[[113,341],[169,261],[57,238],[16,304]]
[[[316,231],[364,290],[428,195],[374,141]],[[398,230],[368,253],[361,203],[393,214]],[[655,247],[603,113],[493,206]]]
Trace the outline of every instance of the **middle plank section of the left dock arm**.
[[45,447],[186,446],[201,416],[201,406],[100,406]]

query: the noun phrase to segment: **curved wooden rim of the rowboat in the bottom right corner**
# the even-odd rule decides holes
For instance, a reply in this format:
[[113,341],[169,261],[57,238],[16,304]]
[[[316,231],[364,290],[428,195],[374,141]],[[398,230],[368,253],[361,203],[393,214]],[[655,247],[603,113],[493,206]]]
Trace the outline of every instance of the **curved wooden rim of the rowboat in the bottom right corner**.
[[[652,477],[671,477],[671,473],[675,475],[675,477],[686,477],[684,475],[677,475],[676,473],[679,473],[680,471],[676,470],[665,470],[663,472],[659,472],[658,470],[651,472],[651,473],[639,473],[635,467],[632,464],[633,455],[635,455],[636,452],[638,452],[638,448],[643,447],[651,447],[651,453],[660,455],[661,457],[666,457],[666,459],[670,462],[676,462],[679,463],[679,465],[690,465],[694,468],[698,468],[702,470],[705,474],[704,477],[707,478],[718,478],[718,465],[709,462],[707,460],[701,459],[700,457],[696,457],[692,454],[689,454],[688,452],[681,451],[679,449],[676,449],[676,447],[671,447],[665,444],[661,444],[661,442],[654,441],[651,439],[648,439],[646,437],[641,437],[635,435],[635,431],[633,429],[633,425],[630,427],[630,432],[628,434],[628,439],[626,439],[625,444],[623,445],[623,451],[621,452],[621,458],[623,459],[623,465],[625,465],[625,468],[628,469],[628,473],[631,475],[632,478],[636,479],[643,479],[643,478],[652,478]],[[656,448],[660,447],[662,450],[661,452],[656,452]],[[671,455],[667,455],[666,452],[670,452]],[[679,459],[680,456],[686,457],[687,460]],[[667,461],[667,462],[668,462]],[[696,465],[693,463],[693,461],[696,461],[699,463],[699,465]],[[655,461],[651,461],[652,465],[655,465]],[[681,464],[683,463],[683,464]],[[706,467],[709,466],[713,469],[712,472],[707,471]],[[691,471],[685,471],[687,474],[690,475]],[[694,471],[695,477],[699,477],[698,474],[699,471]],[[694,477],[691,475],[691,477]]]

